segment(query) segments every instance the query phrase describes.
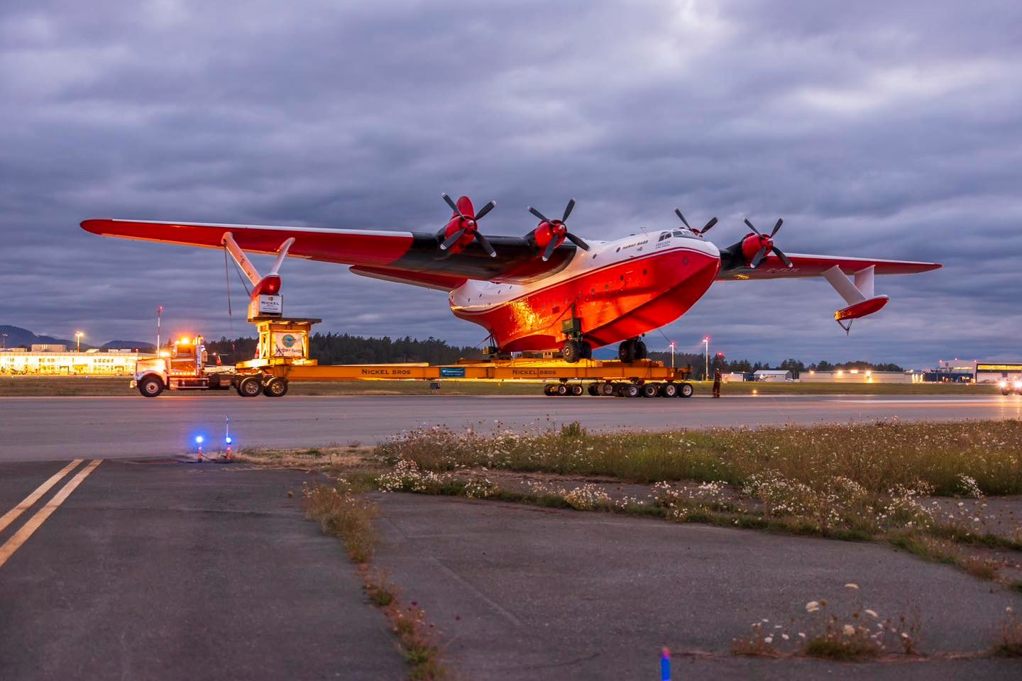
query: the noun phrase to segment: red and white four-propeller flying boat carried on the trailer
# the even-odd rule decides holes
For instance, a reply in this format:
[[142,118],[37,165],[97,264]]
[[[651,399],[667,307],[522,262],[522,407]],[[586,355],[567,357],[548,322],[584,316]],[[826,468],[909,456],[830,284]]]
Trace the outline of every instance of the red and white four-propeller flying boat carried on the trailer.
[[[357,275],[447,291],[456,317],[481,326],[500,352],[561,349],[568,361],[620,342],[621,359],[645,356],[640,337],[669,324],[696,303],[715,281],[823,277],[847,306],[835,319],[852,320],[887,303],[875,295],[874,275],[936,270],[935,262],[832,255],[785,254],[774,242],[782,221],[764,234],[751,230],[727,248],[702,229],[681,223],[670,229],[615,241],[583,240],[567,231],[570,200],[560,218],[529,211],[539,226],[523,237],[485,237],[468,197],[444,199],[452,216],[437,232],[334,230],[199,225],[132,220],[87,220],[82,228],[107,237],[228,248],[252,279],[252,295],[280,290],[277,271],[285,255],[352,265]],[[260,278],[243,251],[276,254],[272,273]],[[245,265],[248,265],[247,267]],[[849,278],[851,275],[852,278]]]

